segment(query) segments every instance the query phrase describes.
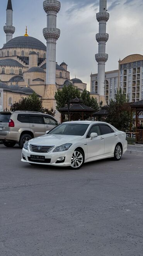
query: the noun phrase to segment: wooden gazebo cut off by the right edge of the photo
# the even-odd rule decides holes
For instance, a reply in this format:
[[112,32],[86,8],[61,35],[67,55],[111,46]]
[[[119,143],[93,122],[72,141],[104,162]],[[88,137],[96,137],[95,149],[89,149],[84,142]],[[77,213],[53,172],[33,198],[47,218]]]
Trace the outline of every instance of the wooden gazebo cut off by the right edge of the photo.
[[136,142],[143,144],[143,129],[138,128],[139,116],[143,112],[143,100],[131,104],[131,116],[136,113]]

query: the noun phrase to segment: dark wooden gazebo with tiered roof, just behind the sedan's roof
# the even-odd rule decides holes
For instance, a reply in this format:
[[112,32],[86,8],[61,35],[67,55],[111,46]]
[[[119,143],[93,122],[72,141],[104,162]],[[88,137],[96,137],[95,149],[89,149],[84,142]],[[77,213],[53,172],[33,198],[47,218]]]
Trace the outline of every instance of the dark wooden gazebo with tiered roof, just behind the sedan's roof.
[[92,113],[94,113],[95,109],[85,106],[83,100],[80,100],[76,97],[75,99],[70,100],[68,104],[65,105],[65,107],[58,109],[58,111],[61,113],[61,123],[63,123],[65,115],[68,115],[69,121],[75,119],[76,114],[80,114],[80,120],[84,120],[85,114],[90,115],[92,118]]

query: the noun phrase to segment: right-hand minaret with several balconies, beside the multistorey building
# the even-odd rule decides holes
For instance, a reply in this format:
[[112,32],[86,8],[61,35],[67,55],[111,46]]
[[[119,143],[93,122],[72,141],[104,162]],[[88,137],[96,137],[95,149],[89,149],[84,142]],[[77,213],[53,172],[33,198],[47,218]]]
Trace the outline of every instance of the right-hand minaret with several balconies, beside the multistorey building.
[[109,20],[107,0],[99,0],[99,12],[96,14],[96,19],[99,22],[99,33],[96,34],[98,54],[95,54],[95,60],[98,62],[98,94],[100,100],[104,101],[105,97],[102,96],[105,95],[105,63],[108,60],[108,54],[106,54],[106,42],[109,39],[109,34],[106,33],[106,23]]

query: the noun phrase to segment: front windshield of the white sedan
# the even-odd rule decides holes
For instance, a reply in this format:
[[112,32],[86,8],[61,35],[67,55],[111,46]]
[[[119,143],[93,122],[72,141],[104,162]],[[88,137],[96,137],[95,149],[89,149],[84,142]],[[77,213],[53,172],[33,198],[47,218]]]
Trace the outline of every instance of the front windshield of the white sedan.
[[89,127],[89,124],[63,123],[56,126],[48,134],[83,136],[88,127]]

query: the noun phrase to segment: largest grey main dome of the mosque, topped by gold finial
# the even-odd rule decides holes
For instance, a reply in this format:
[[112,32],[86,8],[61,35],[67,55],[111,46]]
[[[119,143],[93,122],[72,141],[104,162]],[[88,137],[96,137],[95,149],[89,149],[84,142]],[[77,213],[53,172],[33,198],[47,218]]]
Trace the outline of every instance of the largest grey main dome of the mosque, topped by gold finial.
[[33,48],[46,51],[46,46],[40,40],[34,37],[15,37],[9,40],[2,49],[5,48]]

